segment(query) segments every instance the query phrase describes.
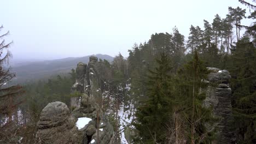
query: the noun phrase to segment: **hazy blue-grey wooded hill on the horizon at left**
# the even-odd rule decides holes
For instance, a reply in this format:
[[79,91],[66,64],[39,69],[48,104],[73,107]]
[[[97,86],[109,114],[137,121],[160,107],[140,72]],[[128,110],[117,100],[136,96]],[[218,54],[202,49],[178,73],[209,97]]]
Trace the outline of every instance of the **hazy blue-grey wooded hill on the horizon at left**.
[[[109,62],[113,61],[113,57],[108,55],[97,54],[94,55],[98,59],[106,59]],[[55,59],[49,61],[38,61],[38,62],[19,62],[12,66],[12,70],[16,74],[16,82],[22,83],[25,81],[47,79],[50,76],[57,74],[67,74],[72,68],[77,67],[77,63],[89,62],[90,56],[85,57],[68,57],[62,59]]]

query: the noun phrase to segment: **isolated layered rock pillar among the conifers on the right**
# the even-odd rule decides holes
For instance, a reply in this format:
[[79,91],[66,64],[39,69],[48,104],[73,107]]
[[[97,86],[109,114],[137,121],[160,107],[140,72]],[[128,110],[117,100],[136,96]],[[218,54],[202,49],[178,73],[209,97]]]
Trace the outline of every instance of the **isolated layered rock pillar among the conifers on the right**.
[[217,118],[217,139],[213,143],[232,143],[234,133],[231,129],[232,107],[231,107],[231,88],[229,71],[217,68],[208,68],[212,72],[208,75],[207,81],[211,86],[207,89],[205,106],[213,107],[213,115]]

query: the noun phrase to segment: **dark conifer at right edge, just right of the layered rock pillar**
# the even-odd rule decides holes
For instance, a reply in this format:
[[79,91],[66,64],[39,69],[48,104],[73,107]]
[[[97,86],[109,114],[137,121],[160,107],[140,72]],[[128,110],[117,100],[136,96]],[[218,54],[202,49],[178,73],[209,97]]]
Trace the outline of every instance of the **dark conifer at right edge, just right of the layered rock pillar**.
[[241,39],[232,51],[232,106],[238,143],[256,142],[256,47]]

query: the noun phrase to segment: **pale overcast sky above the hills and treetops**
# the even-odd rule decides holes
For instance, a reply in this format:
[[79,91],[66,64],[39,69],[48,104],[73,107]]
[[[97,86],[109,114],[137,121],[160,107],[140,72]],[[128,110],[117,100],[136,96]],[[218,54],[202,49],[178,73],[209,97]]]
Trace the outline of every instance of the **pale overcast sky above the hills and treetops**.
[[[177,26],[187,38],[238,0],[8,0],[1,2],[1,33],[10,31],[14,59],[58,59],[97,53],[128,56],[133,44]],[[247,15],[249,15],[247,13]],[[242,24],[250,25],[243,21]]]

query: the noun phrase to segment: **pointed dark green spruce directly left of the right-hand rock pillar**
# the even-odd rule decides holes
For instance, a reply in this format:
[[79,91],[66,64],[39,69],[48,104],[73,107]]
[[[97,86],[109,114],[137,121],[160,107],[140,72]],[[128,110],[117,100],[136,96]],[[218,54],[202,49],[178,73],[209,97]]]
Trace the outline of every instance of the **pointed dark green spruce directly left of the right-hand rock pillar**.
[[211,123],[212,113],[210,108],[202,105],[206,98],[202,89],[207,87],[205,79],[208,73],[196,51],[193,60],[178,71],[177,100],[187,121],[187,126],[183,127],[187,127],[189,143],[211,143],[213,129],[208,130],[206,124]]

